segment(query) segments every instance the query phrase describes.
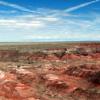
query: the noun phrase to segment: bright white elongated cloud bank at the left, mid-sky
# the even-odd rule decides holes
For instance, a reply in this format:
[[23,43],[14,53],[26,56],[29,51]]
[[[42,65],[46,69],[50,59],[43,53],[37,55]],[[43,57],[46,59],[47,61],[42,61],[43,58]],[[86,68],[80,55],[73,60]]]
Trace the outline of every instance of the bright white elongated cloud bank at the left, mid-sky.
[[0,19],[0,26],[11,27],[11,28],[39,28],[43,27],[44,23],[41,21],[26,21],[26,20],[7,20],[7,19]]

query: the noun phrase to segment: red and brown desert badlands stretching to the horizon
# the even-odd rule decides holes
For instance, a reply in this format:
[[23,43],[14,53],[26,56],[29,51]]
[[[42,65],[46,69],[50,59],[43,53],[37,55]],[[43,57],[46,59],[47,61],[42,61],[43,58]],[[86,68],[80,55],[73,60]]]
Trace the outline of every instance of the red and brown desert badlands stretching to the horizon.
[[100,43],[1,43],[0,100],[100,100]]

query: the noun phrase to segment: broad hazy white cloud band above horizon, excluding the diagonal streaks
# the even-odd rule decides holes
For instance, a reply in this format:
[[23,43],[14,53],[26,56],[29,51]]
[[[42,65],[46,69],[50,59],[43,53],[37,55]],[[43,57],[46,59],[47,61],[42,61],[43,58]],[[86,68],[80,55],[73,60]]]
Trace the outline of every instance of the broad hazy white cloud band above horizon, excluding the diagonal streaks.
[[[100,14],[87,16],[92,20],[81,19],[80,16],[63,18],[24,15],[15,19],[0,19],[0,28],[4,28],[2,33],[5,34],[9,32],[23,35],[24,40],[99,40]],[[8,28],[15,32],[9,31]]]

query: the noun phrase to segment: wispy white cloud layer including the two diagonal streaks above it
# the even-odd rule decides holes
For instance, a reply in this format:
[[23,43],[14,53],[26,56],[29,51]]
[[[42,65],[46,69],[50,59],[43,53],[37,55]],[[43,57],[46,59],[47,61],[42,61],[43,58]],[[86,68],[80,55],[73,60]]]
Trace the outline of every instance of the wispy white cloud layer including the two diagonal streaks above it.
[[80,4],[64,11],[43,8],[31,11],[19,5],[0,2],[2,5],[30,12],[14,18],[1,18],[0,34],[5,33],[9,36],[15,34],[19,36],[16,38],[22,37],[24,40],[99,40],[100,14],[72,15],[69,13],[98,1],[100,0]]

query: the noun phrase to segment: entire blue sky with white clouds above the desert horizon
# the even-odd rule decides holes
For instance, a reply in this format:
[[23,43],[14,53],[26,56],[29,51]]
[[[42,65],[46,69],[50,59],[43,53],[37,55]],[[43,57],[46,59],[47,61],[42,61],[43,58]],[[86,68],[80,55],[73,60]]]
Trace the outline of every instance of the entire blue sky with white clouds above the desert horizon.
[[100,41],[100,0],[0,0],[0,42]]

